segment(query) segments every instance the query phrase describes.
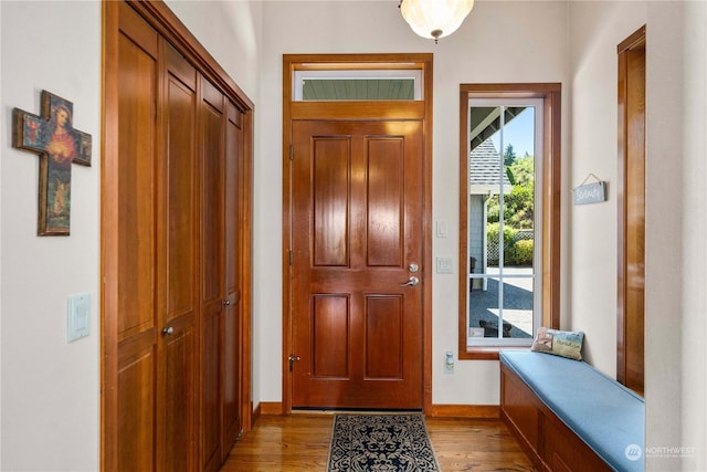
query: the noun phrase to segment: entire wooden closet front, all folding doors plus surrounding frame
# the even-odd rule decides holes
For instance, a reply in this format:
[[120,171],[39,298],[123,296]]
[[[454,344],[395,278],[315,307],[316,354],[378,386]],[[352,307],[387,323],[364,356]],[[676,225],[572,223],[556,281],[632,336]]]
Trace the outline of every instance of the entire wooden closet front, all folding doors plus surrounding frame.
[[101,466],[218,470],[250,427],[252,103],[162,2],[103,8]]

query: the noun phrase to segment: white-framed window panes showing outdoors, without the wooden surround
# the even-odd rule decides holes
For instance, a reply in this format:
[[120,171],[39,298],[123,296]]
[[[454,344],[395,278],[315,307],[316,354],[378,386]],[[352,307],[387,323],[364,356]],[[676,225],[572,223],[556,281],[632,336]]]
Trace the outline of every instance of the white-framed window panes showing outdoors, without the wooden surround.
[[539,99],[468,101],[467,345],[527,344],[539,326],[541,118]]

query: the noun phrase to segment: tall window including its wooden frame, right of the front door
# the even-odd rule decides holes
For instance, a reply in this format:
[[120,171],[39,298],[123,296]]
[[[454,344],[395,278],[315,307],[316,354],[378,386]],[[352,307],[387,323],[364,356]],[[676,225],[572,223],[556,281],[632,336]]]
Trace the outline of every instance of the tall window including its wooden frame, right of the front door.
[[559,85],[537,86],[461,87],[461,358],[558,323]]

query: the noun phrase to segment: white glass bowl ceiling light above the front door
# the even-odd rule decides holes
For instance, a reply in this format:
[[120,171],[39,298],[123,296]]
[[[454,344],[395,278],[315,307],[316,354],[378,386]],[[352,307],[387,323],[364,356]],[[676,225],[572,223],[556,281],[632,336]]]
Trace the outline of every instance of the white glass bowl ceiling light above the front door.
[[474,0],[401,0],[398,7],[412,31],[436,43],[462,25]]

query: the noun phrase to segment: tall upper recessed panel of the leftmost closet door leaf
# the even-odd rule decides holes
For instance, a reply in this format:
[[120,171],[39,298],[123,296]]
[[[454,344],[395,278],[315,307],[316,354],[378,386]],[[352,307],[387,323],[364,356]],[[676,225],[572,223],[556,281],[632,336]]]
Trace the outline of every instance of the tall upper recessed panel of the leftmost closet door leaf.
[[151,328],[155,316],[155,266],[149,262],[155,260],[156,252],[152,201],[156,196],[157,63],[151,51],[125,34],[120,35],[118,51],[123,65],[119,72],[118,151],[123,158],[117,179],[125,198],[116,204],[123,222],[118,228],[118,332],[123,340]]

